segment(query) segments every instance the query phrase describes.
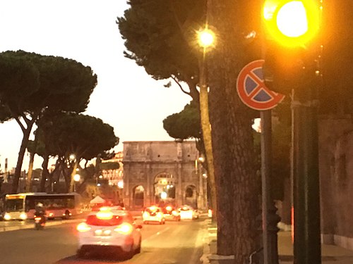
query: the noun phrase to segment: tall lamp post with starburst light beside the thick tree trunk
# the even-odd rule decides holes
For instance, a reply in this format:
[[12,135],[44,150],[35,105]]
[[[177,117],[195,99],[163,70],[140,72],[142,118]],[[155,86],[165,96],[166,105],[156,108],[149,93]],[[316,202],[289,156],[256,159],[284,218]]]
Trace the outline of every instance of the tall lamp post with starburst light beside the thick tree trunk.
[[202,58],[200,60],[200,117],[201,128],[203,132],[203,143],[205,145],[205,158],[208,168],[208,180],[210,184],[210,199],[213,209],[213,220],[217,218],[217,192],[215,187],[215,170],[213,166],[213,149],[212,149],[212,134],[210,125],[210,116],[208,113],[208,85],[206,81],[206,52],[215,46],[215,33],[208,28],[206,23],[203,30],[198,31],[198,44],[203,49]]

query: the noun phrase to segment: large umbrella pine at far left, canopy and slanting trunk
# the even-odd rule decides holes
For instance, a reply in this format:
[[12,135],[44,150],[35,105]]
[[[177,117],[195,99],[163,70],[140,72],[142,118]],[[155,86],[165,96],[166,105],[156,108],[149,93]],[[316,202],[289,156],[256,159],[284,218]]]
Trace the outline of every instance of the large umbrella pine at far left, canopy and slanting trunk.
[[32,126],[46,109],[80,113],[88,106],[97,75],[88,66],[59,56],[26,51],[0,54],[0,117],[15,119],[23,131],[13,193],[17,192]]

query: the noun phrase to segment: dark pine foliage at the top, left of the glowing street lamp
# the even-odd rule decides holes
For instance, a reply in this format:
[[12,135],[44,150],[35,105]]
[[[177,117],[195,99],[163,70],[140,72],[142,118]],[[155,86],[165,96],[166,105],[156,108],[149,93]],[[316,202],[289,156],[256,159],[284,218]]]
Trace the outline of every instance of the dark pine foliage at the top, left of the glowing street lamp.
[[156,80],[172,77],[189,85],[198,101],[196,31],[203,26],[205,0],[128,1],[131,8],[117,18],[128,51],[124,52]]

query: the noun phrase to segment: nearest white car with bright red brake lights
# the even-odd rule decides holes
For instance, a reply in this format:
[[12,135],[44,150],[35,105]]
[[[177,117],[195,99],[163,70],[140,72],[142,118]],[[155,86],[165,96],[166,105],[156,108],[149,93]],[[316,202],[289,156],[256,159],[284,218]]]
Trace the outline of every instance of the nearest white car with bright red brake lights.
[[77,226],[79,257],[98,250],[132,258],[141,249],[141,225],[136,225],[127,210],[100,208]]

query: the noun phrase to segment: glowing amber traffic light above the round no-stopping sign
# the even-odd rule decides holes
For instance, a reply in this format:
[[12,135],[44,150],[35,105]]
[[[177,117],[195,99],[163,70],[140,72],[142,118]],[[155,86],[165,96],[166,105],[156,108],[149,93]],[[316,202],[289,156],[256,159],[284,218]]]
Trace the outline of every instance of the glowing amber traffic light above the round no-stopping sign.
[[316,72],[315,56],[321,8],[316,0],[265,0],[263,75],[269,89],[297,94]]

